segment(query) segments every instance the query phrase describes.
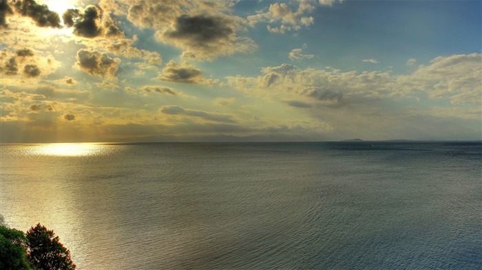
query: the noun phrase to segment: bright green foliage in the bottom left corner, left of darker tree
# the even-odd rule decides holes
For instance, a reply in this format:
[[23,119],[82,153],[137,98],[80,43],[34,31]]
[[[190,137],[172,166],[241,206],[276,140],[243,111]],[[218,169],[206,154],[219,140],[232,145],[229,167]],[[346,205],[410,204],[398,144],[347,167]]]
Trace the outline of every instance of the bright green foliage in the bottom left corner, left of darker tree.
[[[2,218],[3,219],[3,218]],[[23,232],[0,226],[0,269],[30,269]]]

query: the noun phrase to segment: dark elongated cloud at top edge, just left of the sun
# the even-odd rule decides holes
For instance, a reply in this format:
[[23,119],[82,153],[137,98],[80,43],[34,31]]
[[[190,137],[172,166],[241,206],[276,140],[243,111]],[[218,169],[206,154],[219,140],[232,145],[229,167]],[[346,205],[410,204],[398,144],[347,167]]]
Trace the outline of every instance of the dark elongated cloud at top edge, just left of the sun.
[[47,5],[39,5],[34,0],[19,0],[14,5],[20,14],[29,16],[38,26],[61,27],[59,14],[50,11]]

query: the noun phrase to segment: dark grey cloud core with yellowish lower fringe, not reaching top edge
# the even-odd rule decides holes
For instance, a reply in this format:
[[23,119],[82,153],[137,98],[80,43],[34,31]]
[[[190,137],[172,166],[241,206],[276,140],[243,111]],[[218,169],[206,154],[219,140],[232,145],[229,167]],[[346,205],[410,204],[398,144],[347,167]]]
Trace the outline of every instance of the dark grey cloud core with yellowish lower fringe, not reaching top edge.
[[255,49],[256,45],[250,38],[236,36],[238,30],[240,23],[233,16],[182,14],[176,18],[172,29],[157,32],[156,38],[184,49],[182,58],[213,60]]

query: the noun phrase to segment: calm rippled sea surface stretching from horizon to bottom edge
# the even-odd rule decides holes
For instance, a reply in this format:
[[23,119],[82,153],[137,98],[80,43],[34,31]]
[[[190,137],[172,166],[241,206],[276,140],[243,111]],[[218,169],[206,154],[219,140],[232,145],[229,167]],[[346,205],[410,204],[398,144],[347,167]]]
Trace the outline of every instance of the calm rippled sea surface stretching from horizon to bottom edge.
[[79,269],[482,269],[482,144],[2,145]]

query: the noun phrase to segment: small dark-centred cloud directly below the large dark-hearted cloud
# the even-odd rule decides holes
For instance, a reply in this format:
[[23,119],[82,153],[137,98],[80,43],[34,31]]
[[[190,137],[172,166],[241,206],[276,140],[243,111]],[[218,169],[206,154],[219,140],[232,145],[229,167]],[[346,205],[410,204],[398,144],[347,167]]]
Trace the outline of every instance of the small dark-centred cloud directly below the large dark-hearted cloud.
[[171,60],[160,74],[160,79],[169,82],[195,83],[201,80],[201,70],[189,63],[179,65]]

